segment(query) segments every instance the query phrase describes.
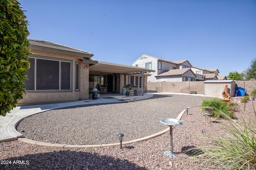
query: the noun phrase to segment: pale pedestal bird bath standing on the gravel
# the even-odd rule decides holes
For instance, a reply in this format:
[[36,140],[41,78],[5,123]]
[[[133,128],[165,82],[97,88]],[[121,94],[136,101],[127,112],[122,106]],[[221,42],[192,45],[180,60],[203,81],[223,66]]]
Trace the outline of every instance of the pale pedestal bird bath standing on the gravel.
[[173,147],[172,147],[172,127],[175,125],[183,125],[182,120],[179,119],[173,119],[173,118],[165,118],[161,119],[160,123],[163,123],[164,125],[168,125],[170,127],[170,145],[169,145],[169,150],[164,152],[164,156],[170,156],[171,158],[176,158],[176,153],[173,152]]

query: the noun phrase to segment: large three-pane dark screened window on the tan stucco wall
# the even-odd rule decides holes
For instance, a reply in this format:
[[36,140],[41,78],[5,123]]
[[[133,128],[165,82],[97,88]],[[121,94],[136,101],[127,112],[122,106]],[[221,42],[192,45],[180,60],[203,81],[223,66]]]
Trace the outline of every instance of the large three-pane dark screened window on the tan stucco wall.
[[26,90],[71,90],[71,62],[30,58]]

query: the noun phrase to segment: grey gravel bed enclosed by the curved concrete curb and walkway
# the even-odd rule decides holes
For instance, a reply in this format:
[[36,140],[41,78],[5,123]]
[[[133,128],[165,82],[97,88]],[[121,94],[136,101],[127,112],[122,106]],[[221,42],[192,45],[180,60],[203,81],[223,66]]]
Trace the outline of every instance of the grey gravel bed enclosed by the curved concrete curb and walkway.
[[162,118],[176,118],[186,107],[199,105],[202,96],[154,95],[153,98],[120,104],[68,107],[32,115],[17,130],[24,137],[46,143],[98,145],[118,143],[123,133],[131,141],[167,127]]

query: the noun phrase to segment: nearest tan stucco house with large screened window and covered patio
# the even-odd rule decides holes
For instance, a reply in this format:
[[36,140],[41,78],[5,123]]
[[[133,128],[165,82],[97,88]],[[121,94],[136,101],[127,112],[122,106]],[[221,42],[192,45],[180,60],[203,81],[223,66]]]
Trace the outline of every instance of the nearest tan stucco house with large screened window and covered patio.
[[[92,59],[92,53],[49,41],[28,41],[34,55],[28,56],[30,68],[27,70],[28,80],[25,80],[27,93],[19,103],[42,104],[88,99],[90,88],[97,85],[98,88],[107,88],[108,92],[121,94],[123,86],[133,80],[131,77],[136,75],[134,83],[137,83],[136,80],[146,82],[146,77],[150,75],[148,72],[154,72],[146,68],[96,61]],[[144,91],[146,87],[144,83]]]

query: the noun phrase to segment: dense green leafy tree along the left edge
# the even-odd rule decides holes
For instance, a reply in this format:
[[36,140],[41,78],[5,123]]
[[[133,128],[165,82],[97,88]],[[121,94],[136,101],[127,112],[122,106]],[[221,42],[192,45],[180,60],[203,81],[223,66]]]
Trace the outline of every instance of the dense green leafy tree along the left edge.
[[25,93],[24,80],[30,63],[28,21],[20,3],[0,0],[0,115],[16,107]]

